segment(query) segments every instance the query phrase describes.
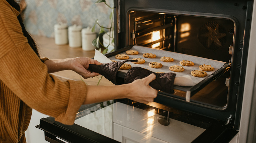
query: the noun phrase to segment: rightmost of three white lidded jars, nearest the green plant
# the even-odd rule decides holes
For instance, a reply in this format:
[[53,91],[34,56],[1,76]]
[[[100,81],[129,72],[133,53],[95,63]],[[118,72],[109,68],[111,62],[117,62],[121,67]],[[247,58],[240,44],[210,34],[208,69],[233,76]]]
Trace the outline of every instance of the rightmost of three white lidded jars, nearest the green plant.
[[92,32],[91,27],[82,29],[82,49],[84,51],[93,51],[95,46],[92,41],[96,39],[96,32]]

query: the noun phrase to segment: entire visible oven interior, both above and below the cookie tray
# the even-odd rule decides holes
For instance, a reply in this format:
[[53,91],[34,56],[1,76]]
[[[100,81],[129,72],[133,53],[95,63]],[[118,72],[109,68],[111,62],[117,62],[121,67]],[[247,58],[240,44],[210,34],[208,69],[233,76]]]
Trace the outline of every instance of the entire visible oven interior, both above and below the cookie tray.
[[[127,46],[139,45],[218,61],[230,62],[235,24],[230,19],[130,10]],[[230,71],[194,94],[190,102],[224,110],[228,103]],[[174,89],[175,98],[186,92]]]

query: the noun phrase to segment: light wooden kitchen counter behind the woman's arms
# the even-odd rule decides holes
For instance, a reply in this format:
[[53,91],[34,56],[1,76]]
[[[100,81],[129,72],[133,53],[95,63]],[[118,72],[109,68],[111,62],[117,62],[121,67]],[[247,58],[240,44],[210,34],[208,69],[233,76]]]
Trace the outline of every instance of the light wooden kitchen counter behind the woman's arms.
[[[93,58],[95,54],[95,51],[83,51],[82,48],[71,48],[68,44],[56,45],[54,42],[54,38],[46,38],[42,36],[33,36],[33,38],[38,44],[38,50],[41,56],[48,57],[49,59],[63,59],[79,56]],[[82,76],[71,70],[58,71],[52,74],[58,76],[63,80],[72,79],[78,81],[82,78]],[[85,81],[88,85],[97,85],[100,77],[101,75],[88,79],[82,78],[82,80]],[[102,77],[101,81],[99,82],[99,85],[108,86],[114,84],[108,81],[106,78]]]

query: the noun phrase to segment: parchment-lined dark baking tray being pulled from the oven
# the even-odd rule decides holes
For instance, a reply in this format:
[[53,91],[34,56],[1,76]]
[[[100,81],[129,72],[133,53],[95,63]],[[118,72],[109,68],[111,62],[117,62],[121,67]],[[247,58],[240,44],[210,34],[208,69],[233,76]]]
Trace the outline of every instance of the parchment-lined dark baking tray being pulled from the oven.
[[[185,70],[183,72],[174,72],[176,73],[175,81],[174,81],[174,89],[181,90],[186,92],[186,101],[190,101],[190,97],[196,94],[199,90],[201,90],[203,87],[208,85],[210,82],[216,80],[218,77],[220,77],[222,74],[224,74],[226,71],[230,68],[230,63],[202,58],[198,56],[191,56],[181,53],[175,53],[170,51],[163,51],[158,49],[152,49],[142,46],[130,46],[125,47],[119,50],[116,50],[115,52],[106,54],[105,56],[108,57],[110,60],[116,60],[116,61],[123,61],[116,59],[115,56],[117,54],[126,54],[125,52],[127,50],[136,50],[139,52],[138,55],[128,55],[129,59],[132,58],[142,58],[145,60],[144,64],[134,64],[132,62],[127,62],[131,64],[132,67],[142,67],[146,68],[153,72],[174,72],[170,71],[169,67],[172,65],[180,65],[179,62],[181,60],[190,60],[193,61],[195,64],[194,66],[182,66]],[[156,54],[156,58],[144,58],[142,55],[144,53],[152,53]],[[127,55],[127,54],[126,54]],[[162,62],[160,61],[160,58],[162,56],[168,56],[172,57],[174,59],[173,62]],[[126,59],[128,60],[128,59]],[[148,66],[150,62],[159,62],[163,64],[162,68],[154,69]],[[214,67],[214,71],[206,71],[207,76],[206,77],[194,77],[190,74],[192,70],[199,70],[198,66],[202,64],[211,65]],[[117,77],[124,78],[126,72],[128,70],[119,70],[117,72]],[[172,95],[169,93],[166,93],[167,95]]]

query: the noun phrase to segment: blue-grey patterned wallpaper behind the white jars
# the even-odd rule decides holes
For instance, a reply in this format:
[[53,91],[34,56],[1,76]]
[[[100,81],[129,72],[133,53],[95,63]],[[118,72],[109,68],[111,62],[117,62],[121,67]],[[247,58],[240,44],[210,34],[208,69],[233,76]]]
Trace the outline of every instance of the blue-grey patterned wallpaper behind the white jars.
[[[102,26],[109,26],[111,9],[97,0],[25,0],[24,25],[31,34],[54,37],[54,24],[93,27],[98,19]],[[113,0],[106,0],[113,7]],[[96,31],[99,27],[96,26]]]

